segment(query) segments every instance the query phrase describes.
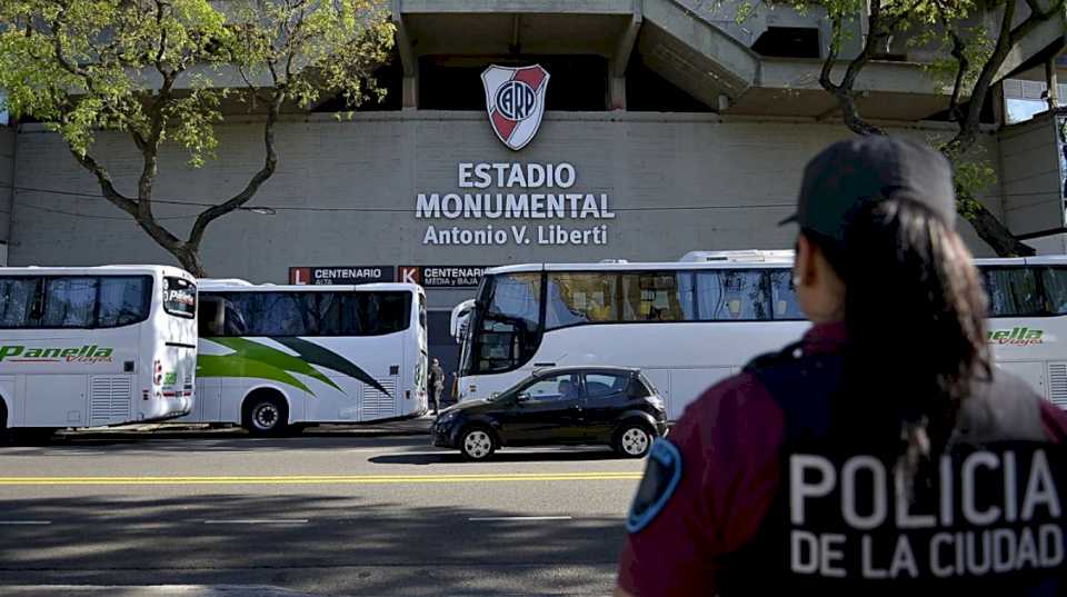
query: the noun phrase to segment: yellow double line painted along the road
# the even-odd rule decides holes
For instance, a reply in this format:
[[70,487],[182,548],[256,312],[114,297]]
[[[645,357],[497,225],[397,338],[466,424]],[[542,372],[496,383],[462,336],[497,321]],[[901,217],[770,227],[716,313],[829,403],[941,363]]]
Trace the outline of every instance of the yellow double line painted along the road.
[[381,485],[517,481],[632,481],[640,472],[515,472],[481,475],[265,475],[218,477],[0,477],[0,486],[40,485]]

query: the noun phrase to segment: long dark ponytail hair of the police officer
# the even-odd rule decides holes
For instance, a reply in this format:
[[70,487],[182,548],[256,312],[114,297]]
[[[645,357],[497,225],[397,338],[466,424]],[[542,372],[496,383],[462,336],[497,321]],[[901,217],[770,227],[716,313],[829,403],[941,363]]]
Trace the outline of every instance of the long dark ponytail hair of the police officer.
[[973,384],[991,375],[987,300],[970,251],[905,198],[860,207],[841,241],[801,233],[845,283],[847,418],[857,434],[896,441],[914,474],[947,444]]

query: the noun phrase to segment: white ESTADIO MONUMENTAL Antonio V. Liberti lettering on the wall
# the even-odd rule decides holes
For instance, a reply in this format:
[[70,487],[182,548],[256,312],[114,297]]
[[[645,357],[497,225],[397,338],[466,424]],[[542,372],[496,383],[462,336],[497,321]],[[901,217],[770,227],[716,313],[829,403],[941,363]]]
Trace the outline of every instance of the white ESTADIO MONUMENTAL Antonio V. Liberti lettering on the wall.
[[[478,225],[429,225],[422,245],[608,243],[608,225],[601,223],[615,219],[608,193],[576,190],[578,177],[570,163],[465,162],[458,170],[458,186],[463,191],[420,192],[415,217]],[[479,192],[482,190],[486,192]],[[507,220],[554,221],[526,225]],[[581,225],[565,226],[574,221]]]

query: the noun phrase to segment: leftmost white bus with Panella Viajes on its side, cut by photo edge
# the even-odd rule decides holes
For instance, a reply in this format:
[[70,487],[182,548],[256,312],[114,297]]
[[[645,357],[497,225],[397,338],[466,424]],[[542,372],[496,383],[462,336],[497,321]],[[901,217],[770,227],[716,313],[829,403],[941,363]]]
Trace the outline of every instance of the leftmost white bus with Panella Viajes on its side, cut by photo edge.
[[0,268],[0,428],[188,414],[196,316],[196,280],[177,268]]

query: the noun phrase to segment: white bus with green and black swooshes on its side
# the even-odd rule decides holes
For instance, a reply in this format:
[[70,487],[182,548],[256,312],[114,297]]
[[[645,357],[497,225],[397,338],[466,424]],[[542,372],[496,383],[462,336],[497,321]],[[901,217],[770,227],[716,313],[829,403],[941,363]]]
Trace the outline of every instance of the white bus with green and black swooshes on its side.
[[422,287],[200,285],[199,399],[183,421],[267,435],[427,411]]

